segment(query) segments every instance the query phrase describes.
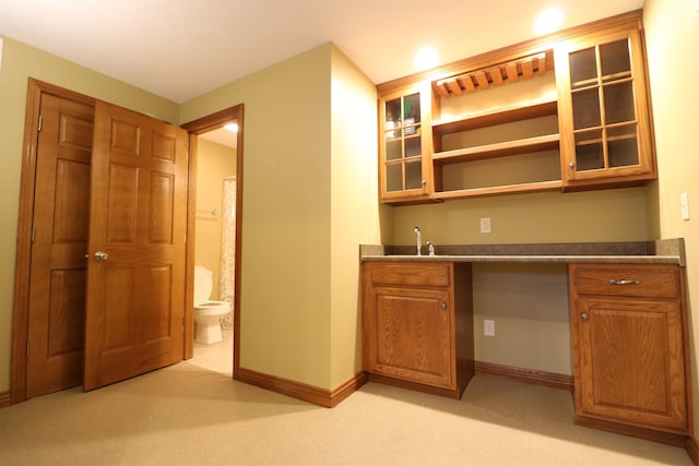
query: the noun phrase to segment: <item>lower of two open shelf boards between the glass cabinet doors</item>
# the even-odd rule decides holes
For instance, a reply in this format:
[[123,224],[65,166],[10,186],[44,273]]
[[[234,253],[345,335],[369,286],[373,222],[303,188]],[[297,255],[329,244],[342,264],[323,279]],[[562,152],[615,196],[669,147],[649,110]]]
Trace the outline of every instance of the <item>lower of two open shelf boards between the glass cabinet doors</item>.
[[559,147],[560,135],[547,134],[475,147],[458,148],[433,154],[437,164],[458,164],[460,162],[481,160],[483,158],[506,157],[541,151],[554,151]]

